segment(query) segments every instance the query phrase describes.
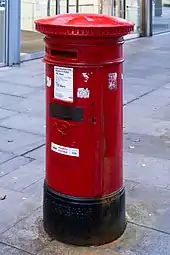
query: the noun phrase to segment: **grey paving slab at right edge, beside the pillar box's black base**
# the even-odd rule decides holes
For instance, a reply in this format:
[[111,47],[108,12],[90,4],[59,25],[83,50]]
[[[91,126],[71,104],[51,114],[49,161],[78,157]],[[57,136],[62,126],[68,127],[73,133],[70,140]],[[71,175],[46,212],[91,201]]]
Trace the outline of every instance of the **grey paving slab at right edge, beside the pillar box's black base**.
[[170,235],[170,190],[151,185],[136,185],[126,195],[130,222]]

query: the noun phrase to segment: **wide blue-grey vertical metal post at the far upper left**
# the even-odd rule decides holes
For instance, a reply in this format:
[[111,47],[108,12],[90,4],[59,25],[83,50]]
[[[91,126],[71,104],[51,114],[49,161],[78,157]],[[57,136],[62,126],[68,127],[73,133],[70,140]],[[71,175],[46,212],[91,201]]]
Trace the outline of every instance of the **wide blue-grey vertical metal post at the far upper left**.
[[6,64],[20,64],[21,0],[6,0]]

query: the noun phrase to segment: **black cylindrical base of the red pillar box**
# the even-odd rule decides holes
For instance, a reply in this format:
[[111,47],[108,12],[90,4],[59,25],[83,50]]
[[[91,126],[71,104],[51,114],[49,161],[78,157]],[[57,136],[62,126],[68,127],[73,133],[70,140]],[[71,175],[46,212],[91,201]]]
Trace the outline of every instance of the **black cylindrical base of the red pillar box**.
[[43,224],[53,238],[73,245],[102,245],[126,227],[125,190],[88,199],[66,196],[44,185]]

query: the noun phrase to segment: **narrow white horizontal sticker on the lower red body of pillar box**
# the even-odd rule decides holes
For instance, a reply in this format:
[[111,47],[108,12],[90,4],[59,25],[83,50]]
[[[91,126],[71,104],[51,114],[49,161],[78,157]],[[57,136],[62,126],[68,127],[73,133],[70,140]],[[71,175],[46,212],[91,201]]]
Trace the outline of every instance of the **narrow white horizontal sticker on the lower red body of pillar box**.
[[59,154],[72,156],[72,157],[79,157],[79,149],[77,148],[70,148],[70,147],[65,147],[55,143],[51,143],[51,150]]

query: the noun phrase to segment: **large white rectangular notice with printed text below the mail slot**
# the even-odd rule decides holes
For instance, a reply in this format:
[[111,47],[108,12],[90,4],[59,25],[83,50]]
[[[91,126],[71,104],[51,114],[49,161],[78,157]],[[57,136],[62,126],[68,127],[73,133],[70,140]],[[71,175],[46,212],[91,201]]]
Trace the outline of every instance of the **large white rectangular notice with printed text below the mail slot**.
[[54,98],[73,102],[73,68],[54,66]]

